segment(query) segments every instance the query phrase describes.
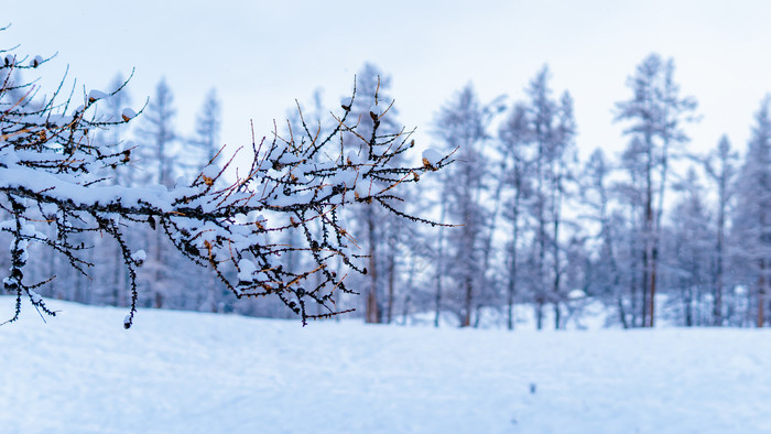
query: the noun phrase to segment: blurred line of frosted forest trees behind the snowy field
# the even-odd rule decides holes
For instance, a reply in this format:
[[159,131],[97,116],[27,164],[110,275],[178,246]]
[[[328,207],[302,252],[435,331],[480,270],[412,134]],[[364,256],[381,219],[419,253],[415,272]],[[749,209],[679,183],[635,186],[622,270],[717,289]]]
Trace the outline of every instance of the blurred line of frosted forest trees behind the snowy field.
[[[771,324],[771,97],[748,119],[746,148],[724,135],[710,152],[693,152],[688,131],[698,128],[697,100],[681,95],[674,62],[652,54],[612,108],[625,127],[623,152],[607,155],[598,148],[580,159],[573,99],[551,87],[551,74],[547,67],[536,72],[520,100],[482,101],[468,85],[436,110],[430,145],[452,153],[453,164],[390,203],[397,214],[371,206],[345,213],[367,274],[346,278],[360,295],[340,295],[337,307],[356,308],[352,315],[369,323],[510,329],[530,315],[537,328],[564,328],[597,304],[608,325],[625,328],[659,319]],[[121,83],[118,77],[116,86]],[[372,128],[370,111],[390,101],[390,77],[376,66],[357,74],[357,98],[347,109],[360,127]],[[116,117],[129,102],[126,91],[117,97],[105,107]],[[202,97],[194,131],[175,130],[173,91],[161,80],[132,130],[98,132],[94,140],[122,142],[141,155],[111,182],[171,187],[211,161],[225,164],[221,102],[214,90]],[[334,128],[319,99],[275,133],[292,134],[303,123]],[[403,133],[397,107],[389,110],[380,133]],[[420,225],[398,213],[454,226]],[[292,234],[273,242],[298,242]],[[148,251],[139,272],[141,306],[293,316],[267,297],[236,301],[205,270],[172,254],[152,229],[132,231],[128,242]],[[56,275],[39,292],[88,304],[130,303],[118,248],[98,235],[84,236],[83,245],[95,264],[88,275],[56,256],[30,264],[33,274]],[[290,271],[308,260],[293,252],[281,258]],[[1,267],[9,261],[0,253]]]

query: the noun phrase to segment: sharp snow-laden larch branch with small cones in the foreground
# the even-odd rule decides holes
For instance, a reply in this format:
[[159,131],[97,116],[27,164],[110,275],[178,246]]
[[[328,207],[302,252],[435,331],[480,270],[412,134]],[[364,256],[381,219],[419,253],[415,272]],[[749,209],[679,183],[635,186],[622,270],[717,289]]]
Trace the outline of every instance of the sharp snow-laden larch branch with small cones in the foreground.
[[[17,68],[43,63],[39,56],[19,58],[11,53],[0,63],[0,74],[10,77]],[[86,275],[93,263],[84,253],[90,246],[77,235],[101,234],[119,247],[129,276],[131,307],[124,326],[130,327],[139,299],[137,269],[148,260],[141,246],[127,242],[127,232],[137,228],[150,228],[173,246],[175,254],[208,268],[238,299],[276,297],[304,323],[338,314],[334,295],[352,292],[346,276],[365,269],[340,211],[352,204],[395,211],[388,200],[398,198],[403,185],[447,161],[433,152],[422,165],[392,164],[413,147],[409,134],[380,134],[386,113],[373,113],[373,128],[362,135],[350,117],[355,90],[335,115],[328,134],[315,134],[303,122],[302,131],[290,137],[274,133],[238,150],[248,156],[248,165],[236,180],[222,175],[234,159],[222,166],[207,165],[183,184],[164,183],[171,169],[160,166],[158,184],[113,185],[109,180],[115,170],[129,164],[135,152],[93,140],[93,134],[137,116],[127,108],[121,119],[112,119],[100,110],[100,101],[120,88],[88,91],[80,105],[61,100],[58,93],[36,99],[30,89],[32,85],[23,82],[0,84],[0,209],[7,216],[0,230],[11,239],[11,267],[3,280],[4,291],[15,296],[11,322],[21,314],[23,299],[55,315],[36,292],[48,280],[31,281],[25,273],[30,262],[58,256]],[[344,132],[352,139],[340,141]],[[300,242],[275,242],[276,235],[286,231],[296,231]],[[290,251],[310,260],[287,271],[280,256]],[[332,267],[338,260],[339,270]],[[311,305],[323,311],[315,313]]]

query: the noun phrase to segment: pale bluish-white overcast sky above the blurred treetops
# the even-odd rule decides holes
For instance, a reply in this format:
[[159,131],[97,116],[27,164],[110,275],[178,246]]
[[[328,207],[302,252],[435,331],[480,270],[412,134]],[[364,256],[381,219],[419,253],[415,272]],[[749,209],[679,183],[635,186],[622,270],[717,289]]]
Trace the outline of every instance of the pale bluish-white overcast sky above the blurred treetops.
[[752,113],[771,90],[771,1],[7,1],[3,47],[57,58],[45,68],[106,89],[135,76],[135,108],[165,76],[180,131],[216,87],[222,140],[248,143],[283,119],[294,99],[323,88],[332,108],[365,62],[392,77],[399,121],[430,142],[437,107],[471,82],[482,100],[520,99],[549,64],[553,88],[575,99],[578,145],[620,150],[613,104],[651,52],[674,57],[675,79],[699,102],[687,129],[709,149],[721,133],[745,148]]

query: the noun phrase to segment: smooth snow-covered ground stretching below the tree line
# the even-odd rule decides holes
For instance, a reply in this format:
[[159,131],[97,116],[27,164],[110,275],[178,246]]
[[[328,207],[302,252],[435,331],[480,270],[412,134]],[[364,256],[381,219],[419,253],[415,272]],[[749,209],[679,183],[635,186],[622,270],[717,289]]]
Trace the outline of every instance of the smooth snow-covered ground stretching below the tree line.
[[771,432],[767,330],[302,328],[141,311],[127,332],[124,310],[52,304],[48,324],[28,307],[0,327],[2,433]]

